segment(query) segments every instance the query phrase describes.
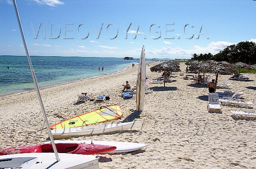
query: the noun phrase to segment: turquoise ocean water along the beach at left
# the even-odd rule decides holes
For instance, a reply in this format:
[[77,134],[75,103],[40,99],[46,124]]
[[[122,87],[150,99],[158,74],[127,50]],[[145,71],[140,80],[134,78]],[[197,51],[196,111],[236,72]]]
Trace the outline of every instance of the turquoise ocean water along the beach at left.
[[[42,61],[39,61],[39,60]],[[31,56],[39,88],[122,71],[138,60],[114,57]],[[7,69],[7,66],[10,69]],[[98,70],[98,67],[104,71]],[[34,90],[26,56],[0,56],[0,96]]]

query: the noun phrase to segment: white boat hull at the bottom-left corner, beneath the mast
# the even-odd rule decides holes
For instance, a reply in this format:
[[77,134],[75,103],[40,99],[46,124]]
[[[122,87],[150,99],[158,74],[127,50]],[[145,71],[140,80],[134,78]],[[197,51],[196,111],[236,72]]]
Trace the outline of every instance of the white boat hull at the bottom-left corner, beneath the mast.
[[4,169],[99,169],[96,155],[59,153],[22,153],[0,156],[0,168]]

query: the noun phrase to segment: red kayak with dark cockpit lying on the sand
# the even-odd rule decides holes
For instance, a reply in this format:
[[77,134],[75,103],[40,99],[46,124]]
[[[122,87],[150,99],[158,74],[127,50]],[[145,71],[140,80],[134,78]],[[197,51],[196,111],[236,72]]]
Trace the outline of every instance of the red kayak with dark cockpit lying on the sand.
[[[56,143],[58,153],[71,154],[96,154],[113,151],[114,146],[86,144],[86,143]],[[18,154],[18,153],[53,153],[51,144],[24,145],[0,149],[0,155]]]

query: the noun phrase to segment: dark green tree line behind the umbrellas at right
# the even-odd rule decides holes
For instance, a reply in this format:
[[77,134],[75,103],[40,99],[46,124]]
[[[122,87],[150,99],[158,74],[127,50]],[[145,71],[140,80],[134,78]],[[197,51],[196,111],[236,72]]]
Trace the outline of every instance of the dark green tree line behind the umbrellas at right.
[[225,49],[212,55],[211,53],[192,55],[191,60],[198,61],[227,61],[229,63],[242,62],[249,65],[256,64],[256,43],[250,41],[241,41],[235,45],[227,46]]

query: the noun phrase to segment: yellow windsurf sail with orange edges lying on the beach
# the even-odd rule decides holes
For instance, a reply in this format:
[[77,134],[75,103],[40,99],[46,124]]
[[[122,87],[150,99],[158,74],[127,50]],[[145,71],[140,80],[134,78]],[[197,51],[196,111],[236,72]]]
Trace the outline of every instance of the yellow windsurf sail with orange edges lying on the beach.
[[122,112],[118,104],[112,106],[104,106],[98,110],[87,112],[79,116],[70,118],[63,122],[59,122],[50,126],[51,129],[56,128],[72,128],[81,127],[89,124],[96,124],[111,120],[118,120],[122,117]]

